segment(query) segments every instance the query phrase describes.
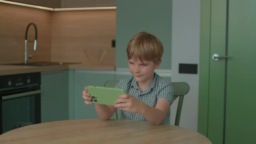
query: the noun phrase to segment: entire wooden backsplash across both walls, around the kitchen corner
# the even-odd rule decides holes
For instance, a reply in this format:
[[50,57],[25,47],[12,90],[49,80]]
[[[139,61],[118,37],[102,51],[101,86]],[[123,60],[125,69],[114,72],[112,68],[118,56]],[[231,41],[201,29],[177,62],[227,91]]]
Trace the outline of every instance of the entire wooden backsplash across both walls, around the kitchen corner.
[[28,31],[29,62],[82,62],[115,65],[116,10],[47,11],[0,3],[0,63],[24,62],[24,40],[30,22],[37,26],[37,50],[33,51],[34,27]]

